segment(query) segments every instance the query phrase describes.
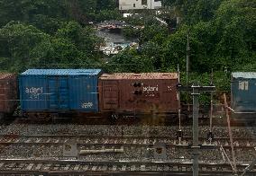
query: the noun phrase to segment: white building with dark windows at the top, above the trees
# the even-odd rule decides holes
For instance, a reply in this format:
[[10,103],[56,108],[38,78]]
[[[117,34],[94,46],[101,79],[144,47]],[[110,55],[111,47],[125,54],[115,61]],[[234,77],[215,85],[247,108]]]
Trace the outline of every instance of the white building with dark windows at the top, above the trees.
[[119,0],[119,10],[159,9],[160,0]]

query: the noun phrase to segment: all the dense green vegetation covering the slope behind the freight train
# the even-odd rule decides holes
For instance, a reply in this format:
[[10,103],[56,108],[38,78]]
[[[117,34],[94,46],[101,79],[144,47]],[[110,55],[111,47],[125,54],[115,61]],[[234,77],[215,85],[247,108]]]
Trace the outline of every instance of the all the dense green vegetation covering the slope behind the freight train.
[[[226,92],[229,83],[223,80],[228,80],[232,71],[255,71],[254,1],[164,2],[158,15],[142,11],[123,19],[114,0],[0,0],[0,70],[19,73],[30,67],[102,67],[108,72],[169,72],[179,65],[184,72],[189,30],[190,81],[208,83],[206,75],[213,68],[215,84]],[[176,17],[181,19],[178,26]],[[103,39],[96,37],[91,25],[105,20],[132,24],[123,34],[127,39],[137,38],[140,47],[126,48],[105,63],[99,52]]]

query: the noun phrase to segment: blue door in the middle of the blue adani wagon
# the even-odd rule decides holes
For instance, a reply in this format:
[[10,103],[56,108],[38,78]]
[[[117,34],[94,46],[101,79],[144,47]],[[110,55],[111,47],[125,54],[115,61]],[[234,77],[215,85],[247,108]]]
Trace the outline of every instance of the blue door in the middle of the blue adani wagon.
[[53,76],[48,78],[49,108],[69,109],[68,78],[65,76]]

